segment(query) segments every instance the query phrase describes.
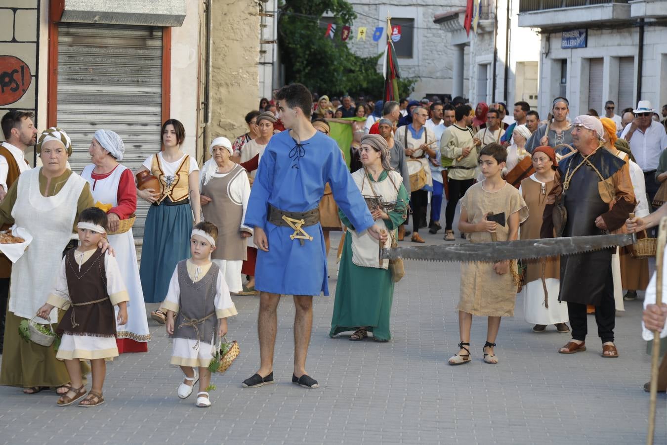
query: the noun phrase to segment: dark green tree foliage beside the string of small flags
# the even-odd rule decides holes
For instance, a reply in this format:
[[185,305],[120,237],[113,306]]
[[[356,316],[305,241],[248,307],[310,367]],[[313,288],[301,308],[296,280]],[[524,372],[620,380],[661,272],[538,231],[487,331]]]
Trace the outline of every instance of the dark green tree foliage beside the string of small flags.
[[[283,0],[279,7],[278,43],[285,83],[303,83],[311,91],[329,95],[382,97],[384,77],[376,69],[382,54],[359,57],[340,38],[344,25],[356,18],[345,0]],[[323,15],[336,17],[336,35],[325,36]],[[356,38],[350,35],[350,39]],[[367,38],[371,38],[369,34]],[[399,79],[402,97],[410,95],[414,79]]]

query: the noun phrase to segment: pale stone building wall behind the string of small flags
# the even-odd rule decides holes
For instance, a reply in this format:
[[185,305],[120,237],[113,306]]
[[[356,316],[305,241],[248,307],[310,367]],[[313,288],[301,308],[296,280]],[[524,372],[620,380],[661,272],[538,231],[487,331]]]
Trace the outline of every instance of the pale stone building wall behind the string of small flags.
[[[378,42],[373,41],[376,27],[387,27],[387,14],[401,19],[415,19],[413,57],[400,58],[398,65],[402,77],[417,77],[412,97],[421,99],[427,93],[452,93],[452,69],[454,67],[454,47],[451,33],[442,26],[433,23],[438,13],[458,9],[464,5],[462,0],[416,1],[395,0],[392,5],[378,4],[374,0],[351,1],[358,14],[352,26],[348,44],[350,49],[360,56],[368,57],[383,53],[386,48],[386,34]],[[425,4],[428,3],[428,4]],[[357,40],[358,27],[367,28],[366,40]],[[340,38],[338,31],[336,38]],[[467,62],[467,61],[466,61]],[[378,64],[382,69],[382,58]],[[467,73],[466,73],[467,74]],[[464,79],[464,91],[468,91],[468,75]]]

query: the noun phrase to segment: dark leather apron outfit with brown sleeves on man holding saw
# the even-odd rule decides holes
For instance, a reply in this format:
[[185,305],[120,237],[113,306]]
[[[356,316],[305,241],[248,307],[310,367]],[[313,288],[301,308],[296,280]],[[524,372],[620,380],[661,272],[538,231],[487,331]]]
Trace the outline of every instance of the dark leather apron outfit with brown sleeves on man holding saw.
[[[635,207],[630,167],[604,148],[598,148],[588,156],[575,151],[562,159],[554,188],[548,195],[540,238],[552,238],[554,234],[553,214],[558,211],[554,206],[558,205],[559,199],[567,211],[562,236],[604,234],[595,225],[598,216],[604,219],[610,232],[618,230]],[[568,302],[574,340],[586,339],[586,305],[592,304],[596,306],[595,318],[602,342],[614,341],[613,252],[612,249],[598,250],[560,259],[558,300]]]

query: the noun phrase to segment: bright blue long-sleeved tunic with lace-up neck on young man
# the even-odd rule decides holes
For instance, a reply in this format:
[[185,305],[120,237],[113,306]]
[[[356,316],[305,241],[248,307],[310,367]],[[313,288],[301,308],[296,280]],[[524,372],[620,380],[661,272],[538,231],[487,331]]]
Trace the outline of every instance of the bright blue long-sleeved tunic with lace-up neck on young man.
[[340,155],[336,141],[315,132],[299,145],[289,131],[271,137],[253,182],[246,226],[263,228],[269,252],[257,252],[255,289],[284,295],[329,295],[327,259],[321,226],[304,228],[312,241],[290,240],[294,230],[267,222],[268,204],[283,211],[308,211],[319,204],[324,184],[359,232],[373,226],[366,201]]

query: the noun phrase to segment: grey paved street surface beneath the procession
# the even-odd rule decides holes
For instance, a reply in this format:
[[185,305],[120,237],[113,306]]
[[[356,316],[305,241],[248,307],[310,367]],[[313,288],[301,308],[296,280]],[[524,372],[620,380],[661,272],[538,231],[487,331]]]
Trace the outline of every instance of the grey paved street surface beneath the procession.
[[[437,236],[422,234],[430,244]],[[332,236],[336,246],[338,237]],[[411,244],[410,242],[404,242]],[[333,294],[335,258],[329,257]],[[616,319],[620,357],[600,357],[590,336],[587,352],[556,350],[568,336],[553,328],[534,334],[522,301],[504,318],[496,353],[482,362],[486,323],[476,319],[473,362],[448,366],[457,350],[459,266],[406,262],[396,286],[392,336],[387,344],[329,339],[333,298],[315,298],[307,369],[316,390],[291,384],[293,306],[279,307],[277,384],[241,388],[259,364],[258,298],[236,297],[239,316],[229,322],[241,356],[214,376],[213,406],[179,400],[181,378],[168,365],[170,346],[151,321],[150,352],[126,354],[109,364],[99,408],[55,406],[53,393],[24,396],[0,387],[0,443],[7,444],[638,444],[644,441],[650,358],[640,338],[641,302],[626,304]],[[155,305],[149,305],[154,308]],[[592,332],[593,318],[589,318]],[[667,443],[667,398],[658,397],[656,443]]]

